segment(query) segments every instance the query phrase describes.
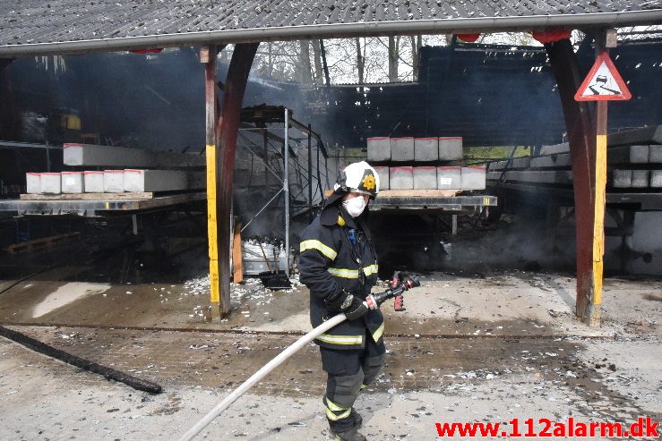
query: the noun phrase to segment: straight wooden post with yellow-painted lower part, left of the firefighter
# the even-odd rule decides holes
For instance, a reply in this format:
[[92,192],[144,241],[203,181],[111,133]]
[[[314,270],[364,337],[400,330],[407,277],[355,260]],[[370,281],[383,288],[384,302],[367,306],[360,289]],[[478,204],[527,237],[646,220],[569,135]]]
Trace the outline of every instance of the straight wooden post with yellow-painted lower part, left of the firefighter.
[[206,161],[207,161],[207,239],[210,258],[210,301],[219,304],[219,225],[217,214],[217,170],[216,170],[216,55],[217,47],[202,47],[200,61],[204,63],[204,98],[206,114]]

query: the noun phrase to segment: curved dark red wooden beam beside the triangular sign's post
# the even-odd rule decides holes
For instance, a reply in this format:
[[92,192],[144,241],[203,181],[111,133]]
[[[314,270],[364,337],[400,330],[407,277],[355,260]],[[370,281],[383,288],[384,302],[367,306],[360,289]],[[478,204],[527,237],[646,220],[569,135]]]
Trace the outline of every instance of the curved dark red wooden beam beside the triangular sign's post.
[[[552,72],[558,85],[568,133],[574,184],[575,219],[577,221],[577,303],[575,315],[587,317],[587,307],[594,299],[597,277],[594,268],[594,233],[596,215],[596,137],[585,102],[574,100],[580,77],[577,56],[569,39],[546,43]],[[599,284],[599,282],[598,282]]]

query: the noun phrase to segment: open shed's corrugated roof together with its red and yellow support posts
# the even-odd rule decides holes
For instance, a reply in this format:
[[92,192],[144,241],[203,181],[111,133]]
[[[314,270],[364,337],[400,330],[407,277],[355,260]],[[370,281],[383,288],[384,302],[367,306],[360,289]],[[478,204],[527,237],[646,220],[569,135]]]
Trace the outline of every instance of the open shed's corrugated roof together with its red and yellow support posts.
[[[0,68],[26,55],[202,45],[207,108],[208,208],[212,301],[229,309],[229,223],[236,132],[245,84],[260,42],[358,36],[536,31],[545,43],[563,104],[577,216],[576,314],[599,321],[606,172],[606,104],[573,96],[580,86],[568,30],[613,46],[608,30],[662,23],[662,1],[448,0],[413,2],[51,2],[0,5]],[[217,114],[216,54],[236,44]],[[218,173],[217,173],[218,172]],[[217,219],[220,222],[217,222]]]

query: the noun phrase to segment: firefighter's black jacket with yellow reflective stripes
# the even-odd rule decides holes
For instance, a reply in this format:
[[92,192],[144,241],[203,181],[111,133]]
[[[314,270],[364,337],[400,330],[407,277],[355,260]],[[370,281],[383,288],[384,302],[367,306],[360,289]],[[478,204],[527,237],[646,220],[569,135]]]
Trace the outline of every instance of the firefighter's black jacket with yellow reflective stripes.
[[[313,327],[338,314],[327,310],[324,298],[344,288],[364,299],[377,282],[377,257],[365,214],[355,219],[340,207],[340,202],[325,207],[301,235],[299,271],[301,282],[310,289]],[[356,231],[356,245],[350,242],[350,230]],[[333,327],[315,343],[333,349],[363,348],[366,338],[378,343],[383,329],[382,312],[370,310],[362,318]]]

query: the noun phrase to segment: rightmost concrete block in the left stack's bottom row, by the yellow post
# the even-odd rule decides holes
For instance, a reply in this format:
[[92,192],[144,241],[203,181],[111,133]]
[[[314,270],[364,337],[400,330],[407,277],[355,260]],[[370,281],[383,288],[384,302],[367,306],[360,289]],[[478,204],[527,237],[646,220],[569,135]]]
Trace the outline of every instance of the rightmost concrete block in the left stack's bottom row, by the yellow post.
[[205,187],[204,172],[125,169],[124,191],[182,191]]

